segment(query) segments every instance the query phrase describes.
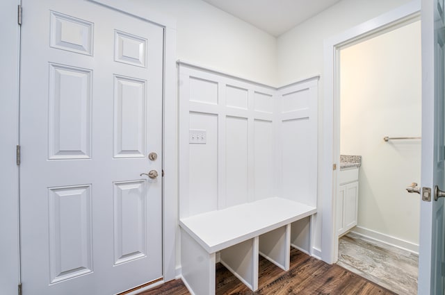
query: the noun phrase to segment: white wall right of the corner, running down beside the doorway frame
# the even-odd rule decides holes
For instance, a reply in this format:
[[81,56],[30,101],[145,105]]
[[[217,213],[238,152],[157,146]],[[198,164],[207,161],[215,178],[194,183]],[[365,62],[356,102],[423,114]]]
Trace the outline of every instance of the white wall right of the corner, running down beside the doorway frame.
[[[286,85],[309,76],[323,74],[324,40],[396,9],[410,0],[342,0],[327,8],[306,22],[296,26],[277,38],[278,84]],[[320,78],[318,96],[318,143],[323,146],[323,76]],[[330,144],[330,143],[326,143]],[[318,149],[318,159],[323,149]],[[318,161],[318,192],[322,192],[321,161]],[[318,198],[318,212],[321,212],[322,198]],[[318,214],[317,214],[318,215]],[[321,218],[314,221],[314,248],[321,250]]]

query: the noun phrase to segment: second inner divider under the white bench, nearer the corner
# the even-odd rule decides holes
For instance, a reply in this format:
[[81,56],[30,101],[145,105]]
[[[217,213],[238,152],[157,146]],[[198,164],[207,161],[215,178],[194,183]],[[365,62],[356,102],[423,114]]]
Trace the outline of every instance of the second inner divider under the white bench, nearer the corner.
[[291,225],[287,224],[260,235],[259,253],[277,265],[277,267],[289,271],[291,261]]

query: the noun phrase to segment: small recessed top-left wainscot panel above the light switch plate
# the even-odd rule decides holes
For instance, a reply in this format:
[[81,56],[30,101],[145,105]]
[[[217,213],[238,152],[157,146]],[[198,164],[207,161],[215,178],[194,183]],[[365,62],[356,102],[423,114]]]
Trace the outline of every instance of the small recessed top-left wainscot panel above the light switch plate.
[[218,83],[190,77],[190,101],[218,104]]

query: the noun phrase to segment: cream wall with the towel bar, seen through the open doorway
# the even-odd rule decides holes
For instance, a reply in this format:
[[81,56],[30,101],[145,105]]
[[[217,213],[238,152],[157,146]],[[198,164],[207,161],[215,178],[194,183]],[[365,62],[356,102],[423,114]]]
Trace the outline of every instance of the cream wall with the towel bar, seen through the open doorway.
[[341,50],[341,153],[362,155],[358,226],[419,244],[421,25]]

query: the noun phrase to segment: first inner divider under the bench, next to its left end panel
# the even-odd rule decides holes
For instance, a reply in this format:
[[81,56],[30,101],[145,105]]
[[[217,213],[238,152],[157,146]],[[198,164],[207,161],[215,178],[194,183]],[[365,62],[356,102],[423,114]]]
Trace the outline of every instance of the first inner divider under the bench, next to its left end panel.
[[252,291],[258,289],[258,237],[220,251],[221,263]]

